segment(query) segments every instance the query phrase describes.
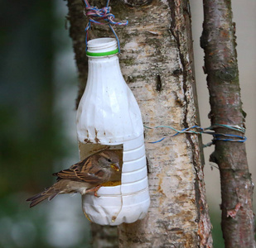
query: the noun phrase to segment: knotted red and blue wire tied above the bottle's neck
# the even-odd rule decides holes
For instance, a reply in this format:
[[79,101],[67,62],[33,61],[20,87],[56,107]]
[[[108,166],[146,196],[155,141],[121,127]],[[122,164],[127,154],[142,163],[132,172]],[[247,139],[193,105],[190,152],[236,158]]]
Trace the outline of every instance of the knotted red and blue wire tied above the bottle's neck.
[[[89,5],[88,0],[84,0],[85,2],[85,16],[89,17],[89,22],[87,26],[85,27],[85,44],[86,44],[86,50],[87,50],[87,44],[88,44],[88,33],[89,29],[91,28],[91,23],[99,24],[99,25],[105,25],[108,24],[111,31],[113,31],[115,38],[118,41],[118,51],[120,52],[120,43],[118,36],[116,32],[114,31],[114,28],[111,25],[118,25],[118,26],[126,26],[128,25],[128,21],[126,22],[117,22],[114,21],[114,14],[111,14],[111,7],[109,7],[109,1],[107,1],[106,7],[98,8],[98,7],[91,7]],[[107,22],[102,22],[107,21]]]

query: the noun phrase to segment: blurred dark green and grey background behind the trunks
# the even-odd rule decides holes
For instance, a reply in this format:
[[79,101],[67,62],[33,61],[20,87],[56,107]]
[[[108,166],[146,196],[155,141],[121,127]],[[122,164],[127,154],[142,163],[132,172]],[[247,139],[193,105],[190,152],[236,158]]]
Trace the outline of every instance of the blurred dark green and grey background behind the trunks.
[[[242,9],[237,5],[239,0],[233,2]],[[253,0],[244,1],[243,7],[250,10],[249,14],[253,14],[255,6]],[[205,108],[209,106],[208,93],[205,78],[200,75],[203,50],[198,45],[202,2],[191,0],[191,8],[195,55],[200,61],[196,64],[200,116],[202,126],[210,126],[207,118],[209,108]],[[79,160],[75,135],[78,82],[68,23],[65,21],[68,12],[66,2],[2,0],[0,9],[0,248],[89,247],[89,223],[81,211],[79,195],[72,199],[63,195],[51,203],[41,203],[31,209],[25,201],[52,184],[53,172]],[[255,42],[255,31],[252,35],[255,22],[251,23],[255,18],[246,19],[249,14],[245,12],[242,19],[250,36],[246,35],[245,39],[244,34],[238,35],[241,39],[239,44],[246,48],[249,44],[244,41]],[[244,31],[246,28],[239,23],[238,32]],[[244,65],[246,69],[245,72],[240,69],[240,78],[249,81],[254,73],[248,69],[252,61],[244,62],[244,53],[241,54],[239,67]],[[245,53],[245,57],[246,60],[252,57],[255,62],[255,50]],[[243,78],[244,74],[249,78]],[[242,83],[245,111],[249,112],[249,117],[254,117],[249,121],[249,129],[254,131],[255,98],[249,94],[254,94],[255,90],[251,86],[247,92]],[[255,131],[250,136],[255,136]],[[254,143],[249,143],[249,147],[254,148],[255,139],[251,141]],[[205,155],[205,160],[208,160],[208,155]],[[253,160],[255,153],[249,152],[249,161]],[[211,171],[210,165],[205,166],[205,171],[215,247],[221,248],[224,245],[218,207],[219,174],[216,169]]]

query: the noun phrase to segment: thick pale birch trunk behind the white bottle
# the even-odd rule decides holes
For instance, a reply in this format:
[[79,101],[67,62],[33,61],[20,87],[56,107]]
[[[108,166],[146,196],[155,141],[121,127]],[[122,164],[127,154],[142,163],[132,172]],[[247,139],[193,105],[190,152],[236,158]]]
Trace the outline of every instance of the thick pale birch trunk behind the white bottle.
[[[104,7],[106,2],[89,4]],[[115,29],[123,76],[137,98],[144,124],[178,130],[199,124],[189,2],[113,0],[110,6],[118,19],[129,21],[128,26]],[[68,0],[68,7],[82,92],[87,77],[87,20],[80,0]],[[93,33],[111,35],[104,27],[95,27]],[[164,128],[145,130],[145,141],[172,133]],[[167,137],[146,143],[146,149],[151,207],[142,221],[118,227],[119,247],[211,247],[199,137]]]

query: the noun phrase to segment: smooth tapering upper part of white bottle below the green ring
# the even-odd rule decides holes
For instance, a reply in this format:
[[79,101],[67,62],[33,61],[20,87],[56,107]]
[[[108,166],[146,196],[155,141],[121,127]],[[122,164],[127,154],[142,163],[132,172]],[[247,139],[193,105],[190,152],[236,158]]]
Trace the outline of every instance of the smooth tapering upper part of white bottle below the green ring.
[[79,141],[122,143],[142,135],[141,112],[118,60],[95,61],[89,64],[85,93],[77,111]]

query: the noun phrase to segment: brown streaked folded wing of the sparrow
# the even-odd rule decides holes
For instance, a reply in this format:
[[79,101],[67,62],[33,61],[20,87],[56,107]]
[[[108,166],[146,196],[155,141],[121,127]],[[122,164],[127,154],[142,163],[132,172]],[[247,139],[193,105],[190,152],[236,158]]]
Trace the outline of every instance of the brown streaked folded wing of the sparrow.
[[60,170],[60,172],[53,175],[58,177],[58,181],[60,179],[70,179],[90,184],[104,183],[104,170],[100,169],[98,166],[89,166],[91,165],[91,162],[90,158],[87,158],[75,165],[72,165],[70,169]]

